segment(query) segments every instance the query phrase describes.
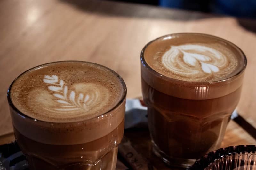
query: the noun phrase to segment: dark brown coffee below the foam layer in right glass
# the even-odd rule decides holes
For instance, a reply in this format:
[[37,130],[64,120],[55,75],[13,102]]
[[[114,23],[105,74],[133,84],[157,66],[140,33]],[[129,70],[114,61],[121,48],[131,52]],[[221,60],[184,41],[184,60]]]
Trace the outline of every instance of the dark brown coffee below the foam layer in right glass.
[[142,89],[155,144],[167,155],[185,159],[220,148],[241,93],[240,87],[220,98],[182,99],[153,89],[143,79]]

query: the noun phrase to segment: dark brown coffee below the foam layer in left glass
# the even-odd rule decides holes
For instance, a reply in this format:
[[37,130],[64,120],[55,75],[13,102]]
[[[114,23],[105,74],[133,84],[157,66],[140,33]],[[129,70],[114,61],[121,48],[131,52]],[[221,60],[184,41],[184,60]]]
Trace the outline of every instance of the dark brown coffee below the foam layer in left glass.
[[106,136],[76,145],[43,144],[25,137],[16,128],[14,132],[21,150],[33,162],[30,170],[112,170],[116,166],[117,145],[124,134],[124,120]]

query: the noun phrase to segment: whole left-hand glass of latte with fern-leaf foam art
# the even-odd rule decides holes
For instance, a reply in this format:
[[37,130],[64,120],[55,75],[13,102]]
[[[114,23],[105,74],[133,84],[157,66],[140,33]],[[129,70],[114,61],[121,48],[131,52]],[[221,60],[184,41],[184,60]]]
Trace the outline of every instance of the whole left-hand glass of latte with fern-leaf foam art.
[[99,64],[61,61],[16,78],[8,101],[14,134],[33,170],[115,170],[126,86]]

